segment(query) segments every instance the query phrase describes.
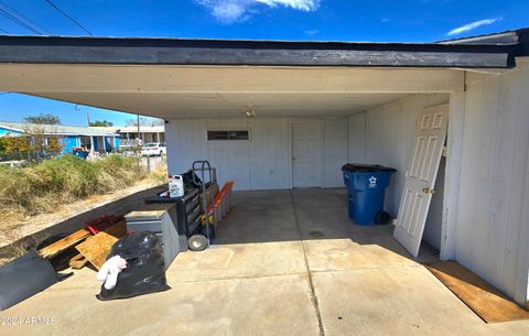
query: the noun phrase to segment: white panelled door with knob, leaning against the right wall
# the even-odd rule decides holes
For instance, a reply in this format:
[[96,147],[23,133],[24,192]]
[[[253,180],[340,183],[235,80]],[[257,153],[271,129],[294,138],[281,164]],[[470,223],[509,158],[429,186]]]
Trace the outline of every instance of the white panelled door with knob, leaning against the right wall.
[[418,138],[406,173],[404,189],[400,200],[393,237],[417,257],[421,246],[433,186],[446,139],[449,105],[424,109],[418,120]]

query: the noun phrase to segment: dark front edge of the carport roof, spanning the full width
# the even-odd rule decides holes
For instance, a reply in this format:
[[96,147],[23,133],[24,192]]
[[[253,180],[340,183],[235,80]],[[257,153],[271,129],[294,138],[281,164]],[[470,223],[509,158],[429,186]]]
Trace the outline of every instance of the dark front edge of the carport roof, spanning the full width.
[[516,39],[352,43],[4,35],[0,63],[509,68],[516,56],[529,54],[527,29],[498,34]]

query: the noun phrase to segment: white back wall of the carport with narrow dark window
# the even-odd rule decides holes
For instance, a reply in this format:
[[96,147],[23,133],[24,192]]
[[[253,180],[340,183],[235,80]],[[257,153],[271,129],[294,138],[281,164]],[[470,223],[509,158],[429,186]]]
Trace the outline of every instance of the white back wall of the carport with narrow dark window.
[[[296,119],[301,120],[301,119]],[[311,119],[314,120],[314,119]],[[170,174],[207,159],[219,183],[235,180],[237,189],[290,188],[291,119],[177,119],[165,124]],[[207,129],[249,129],[250,141],[207,141]],[[324,120],[324,187],[343,186],[341,166],[347,161],[346,119]]]

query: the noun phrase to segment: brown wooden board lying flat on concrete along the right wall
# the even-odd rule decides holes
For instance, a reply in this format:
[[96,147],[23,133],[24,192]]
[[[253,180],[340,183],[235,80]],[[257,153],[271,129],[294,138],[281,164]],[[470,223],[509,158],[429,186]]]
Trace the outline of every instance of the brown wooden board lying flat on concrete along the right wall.
[[529,312],[455,261],[424,267],[486,323],[529,318]]

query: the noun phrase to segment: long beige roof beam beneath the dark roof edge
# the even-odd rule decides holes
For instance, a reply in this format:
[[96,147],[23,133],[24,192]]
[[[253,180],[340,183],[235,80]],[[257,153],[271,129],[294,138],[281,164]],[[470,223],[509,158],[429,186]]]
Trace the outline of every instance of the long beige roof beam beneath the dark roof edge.
[[414,94],[464,90],[430,68],[0,64],[0,90],[50,94]]

